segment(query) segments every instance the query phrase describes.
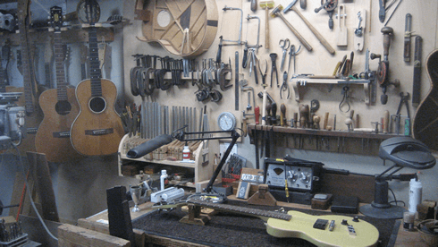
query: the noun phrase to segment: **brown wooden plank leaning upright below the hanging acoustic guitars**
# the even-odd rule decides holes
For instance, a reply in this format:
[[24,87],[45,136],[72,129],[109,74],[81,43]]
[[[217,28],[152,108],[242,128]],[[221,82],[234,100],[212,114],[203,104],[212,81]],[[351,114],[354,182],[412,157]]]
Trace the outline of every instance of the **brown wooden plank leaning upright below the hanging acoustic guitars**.
[[27,152],[29,166],[32,172],[29,174],[36,182],[36,189],[43,209],[42,217],[46,220],[59,222],[58,209],[56,207],[54,186],[48,168],[46,155],[37,152]]

